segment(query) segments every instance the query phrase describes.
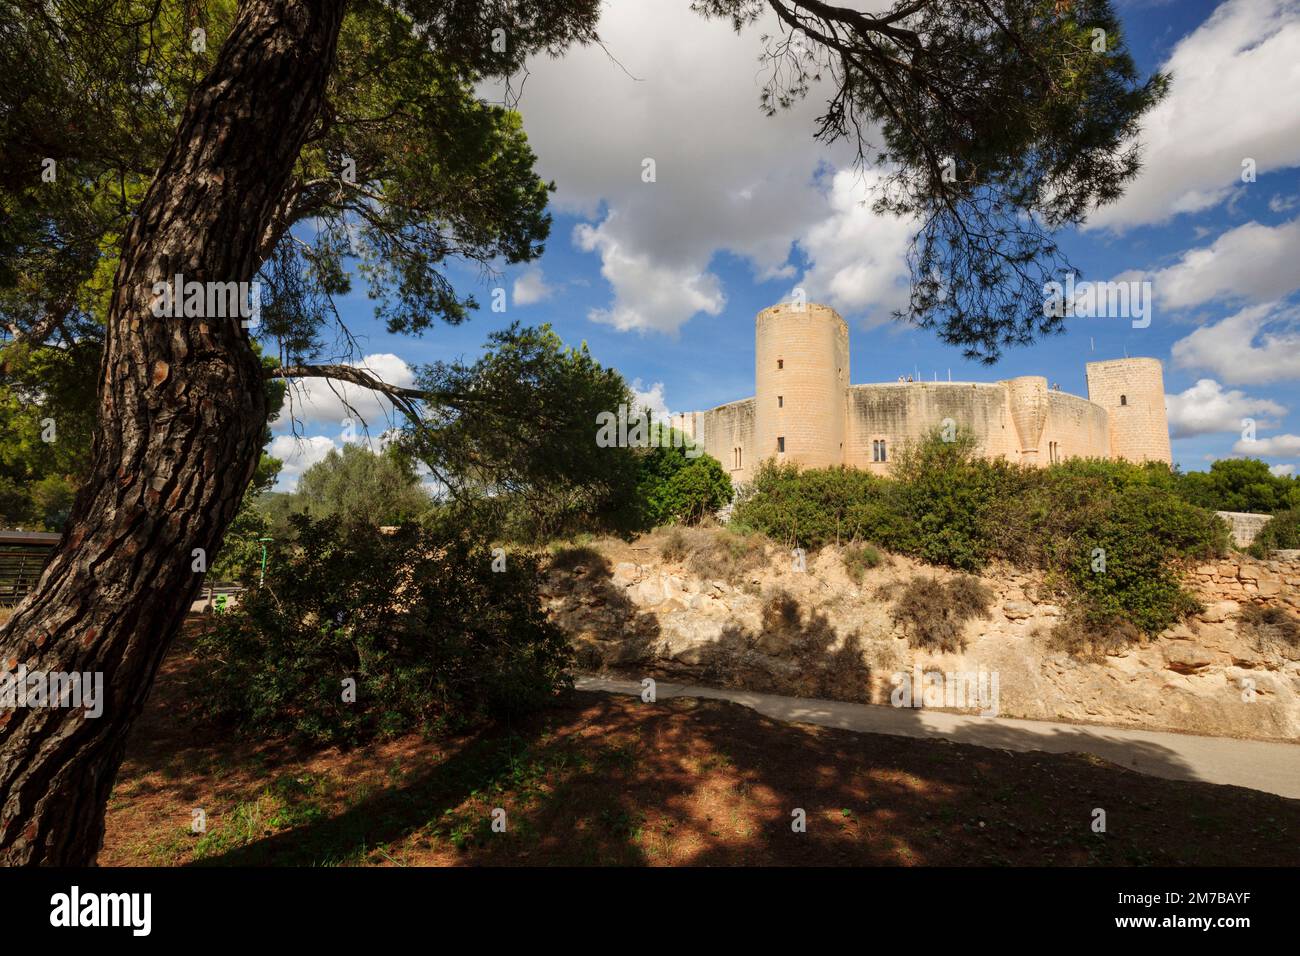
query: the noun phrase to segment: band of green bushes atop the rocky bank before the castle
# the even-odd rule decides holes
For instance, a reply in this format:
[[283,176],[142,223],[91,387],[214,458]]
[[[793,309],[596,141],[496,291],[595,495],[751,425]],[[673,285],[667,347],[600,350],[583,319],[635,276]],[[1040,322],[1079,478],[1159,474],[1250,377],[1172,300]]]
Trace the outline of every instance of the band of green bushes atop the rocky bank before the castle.
[[805,548],[870,541],[962,571],[1037,567],[1076,598],[1084,626],[1115,632],[1128,622],[1157,633],[1192,610],[1180,563],[1227,548],[1223,522],[1184,501],[1165,466],[1026,468],[979,458],[962,433],[906,449],[888,479],[764,466],[733,520]]

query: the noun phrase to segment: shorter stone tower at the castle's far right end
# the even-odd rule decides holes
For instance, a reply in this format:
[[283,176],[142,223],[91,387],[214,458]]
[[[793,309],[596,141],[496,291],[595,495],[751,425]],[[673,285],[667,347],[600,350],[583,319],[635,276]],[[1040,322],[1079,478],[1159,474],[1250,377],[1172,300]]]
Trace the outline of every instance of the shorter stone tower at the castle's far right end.
[[1173,463],[1160,359],[1089,362],[1087,373],[1088,401],[1110,416],[1110,457]]

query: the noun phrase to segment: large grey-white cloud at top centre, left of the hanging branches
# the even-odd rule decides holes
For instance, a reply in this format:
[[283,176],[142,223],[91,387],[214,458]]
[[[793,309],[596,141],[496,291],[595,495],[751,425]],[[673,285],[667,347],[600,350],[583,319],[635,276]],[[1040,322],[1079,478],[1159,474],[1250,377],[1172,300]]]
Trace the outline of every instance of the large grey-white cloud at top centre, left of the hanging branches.
[[737,35],[685,3],[620,0],[602,13],[603,49],[529,64],[520,109],[538,172],[556,182],[556,211],[588,220],[573,243],[599,256],[612,290],[592,320],[673,334],[725,307],[719,255],[789,280],[785,294],[800,248],[810,295],[896,304],[893,232],[874,232],[835,176],[852,165],[848,144],[812,139],[827,90],[775,116],[759,108],[760,38],[777,29],[771,13]]

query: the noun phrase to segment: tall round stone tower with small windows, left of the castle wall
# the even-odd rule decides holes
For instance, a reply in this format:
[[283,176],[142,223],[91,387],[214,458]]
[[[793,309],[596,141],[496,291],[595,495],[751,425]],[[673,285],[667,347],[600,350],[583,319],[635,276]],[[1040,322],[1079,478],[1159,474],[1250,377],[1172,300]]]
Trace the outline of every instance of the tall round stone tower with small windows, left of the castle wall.
[[829,306],[781,303],[754,323],[755,463],[844,463],[849,326]]

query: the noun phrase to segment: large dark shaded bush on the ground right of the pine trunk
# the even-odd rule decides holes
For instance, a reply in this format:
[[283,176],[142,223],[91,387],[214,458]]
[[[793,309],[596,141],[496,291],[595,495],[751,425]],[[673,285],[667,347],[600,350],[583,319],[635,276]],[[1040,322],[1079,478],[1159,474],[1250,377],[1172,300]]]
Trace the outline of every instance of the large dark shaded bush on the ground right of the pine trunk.
[[532,557],[494,570],[489,545],[450,527],[292,520],[298,548],[199,641],[211,715],[352,743],[525,713],[567,684],[568,645],[541,611]]

